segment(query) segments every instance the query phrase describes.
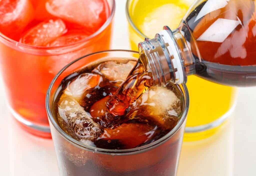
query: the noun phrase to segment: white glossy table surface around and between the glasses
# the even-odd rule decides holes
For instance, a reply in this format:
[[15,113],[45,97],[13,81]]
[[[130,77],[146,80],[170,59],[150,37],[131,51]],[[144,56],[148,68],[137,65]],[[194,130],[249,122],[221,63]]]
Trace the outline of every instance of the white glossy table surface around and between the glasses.
[[[129,49],[125,0],[116,0],[112,49]],[[52,140],[17,126],[5,103],[0,78],[0,175],[58,175]],[[221,100],[220,100],[221,101]],[[223,130],[209,139],[183,143],[178,176],[256,175],[256,87],[240,88],[238,104]]]

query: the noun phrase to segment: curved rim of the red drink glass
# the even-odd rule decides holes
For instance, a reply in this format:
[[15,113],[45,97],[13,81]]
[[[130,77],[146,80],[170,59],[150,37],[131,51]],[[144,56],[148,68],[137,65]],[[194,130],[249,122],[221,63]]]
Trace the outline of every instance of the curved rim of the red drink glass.
[[[44,54],[48,53],[47,55],[52,55],[52,54],[56,55],[56,50],[65,51],[65,50],[69,49],[70,47],[77,46],[77,45],[79,46],[82,43],[89,41],[90,39],[99,35],[110,25],[110,23],[114,17],[114,14],[115,14],[115,0],[106,0],[106,1],[107,1],[108,5],[110,5],[110,3],[111,3],[111,6],[112,6],[112,8],[110,6],[111,9],[110,9],[110,14],[109,14],[108,19],[96,32],[94,32],[90,36],[88,36],[80,41],[77,41],[75,43],[61,45],[61,46],[52,46],[52,47],[50,47],[50,46],[32,46],[32,45],[27,45],[27,44],[21,43],[20,41],[15,41],[13,39],[10,39],[9,37],[2,34],[2,32],[0,32],[0,42],[5,43],[5,45],[7,45],[9,47],[15,47],[16,50],[20,50],[23,52],[24,52],[24,50],[28,51],[29,53],[32,53],[34,51],[33,53],[35,54],[35,50],[42,50],[41,52],[43,52]],[[55,51],[50,51],[50,50],[55,50]],[[36,54],[40,55],[41,52],[36,53]],[[60,54],[60,53],[58,53],[58,54]]]

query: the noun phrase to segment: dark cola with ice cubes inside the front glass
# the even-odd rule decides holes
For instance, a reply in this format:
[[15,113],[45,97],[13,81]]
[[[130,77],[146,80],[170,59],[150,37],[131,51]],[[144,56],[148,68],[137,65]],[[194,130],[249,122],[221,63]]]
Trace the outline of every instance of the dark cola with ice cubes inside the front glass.
[[[183,110],[182,93],[172,83],[149,87],[128,105],[124,115],[112,114],[108,108],[115,94],[126,91],[127,80],[131,79],[128,85],[133,89],[143,88],[134,87],[144,78],[133,75],[138,70],[143,71],[134,60],[113,58],[67,76],[56,102],[60,127],[83,144],[105,149],[136,148],[166,135]],[[126,96],[133,94],[128,91]],[[111,108],[119,109],[118,105]]]

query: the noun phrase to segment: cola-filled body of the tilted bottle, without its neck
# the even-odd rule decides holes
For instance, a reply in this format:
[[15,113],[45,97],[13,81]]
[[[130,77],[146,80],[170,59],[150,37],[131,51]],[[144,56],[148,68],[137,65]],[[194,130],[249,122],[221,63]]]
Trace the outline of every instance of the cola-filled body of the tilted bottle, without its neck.
[[213,82],[255,85],[255,19],[252,0],[199,4],[178,28],[191,44],[193,56],[186,66],[194,63],[193,74]]

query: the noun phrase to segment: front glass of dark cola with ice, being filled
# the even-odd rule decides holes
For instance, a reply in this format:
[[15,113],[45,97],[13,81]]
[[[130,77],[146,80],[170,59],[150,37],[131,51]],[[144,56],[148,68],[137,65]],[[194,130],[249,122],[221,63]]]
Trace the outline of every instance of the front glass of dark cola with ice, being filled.
[[189,106],[186,85],[149,87],[122,116],[107,110],[139,57],[127,50],[96,52],[55,76],[46,108],[60,175],[176,175]]

